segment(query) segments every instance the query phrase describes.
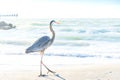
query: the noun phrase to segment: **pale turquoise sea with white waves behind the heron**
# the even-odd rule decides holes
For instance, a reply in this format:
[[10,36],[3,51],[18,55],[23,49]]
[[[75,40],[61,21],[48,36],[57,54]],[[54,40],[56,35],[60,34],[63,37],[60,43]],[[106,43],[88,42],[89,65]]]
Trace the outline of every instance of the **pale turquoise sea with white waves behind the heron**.
[[[120,58],[120,19],[55,19],[56,38],[45,55]],[[11,20],[6,20],[11,21]],[[0,54],[24,55],[38,38],[48,35],[51,19],[16,19],[16,29],[0,30]],[[31,53],[32,55],[38,53]]]

